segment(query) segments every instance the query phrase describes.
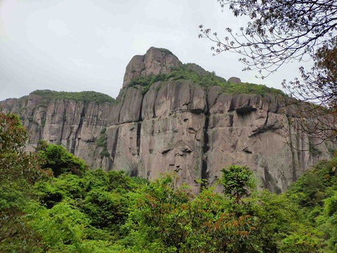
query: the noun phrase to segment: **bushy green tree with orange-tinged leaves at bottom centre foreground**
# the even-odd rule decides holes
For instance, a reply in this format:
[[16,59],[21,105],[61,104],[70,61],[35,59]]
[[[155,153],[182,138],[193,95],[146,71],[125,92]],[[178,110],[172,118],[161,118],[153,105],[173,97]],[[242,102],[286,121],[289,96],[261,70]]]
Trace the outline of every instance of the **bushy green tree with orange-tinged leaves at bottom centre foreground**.
[[258,252],[253,217],[230,212],[232,203],[204,188],[192,196],[173,176],[145,186],[134,198],[124,243],[134,252]]

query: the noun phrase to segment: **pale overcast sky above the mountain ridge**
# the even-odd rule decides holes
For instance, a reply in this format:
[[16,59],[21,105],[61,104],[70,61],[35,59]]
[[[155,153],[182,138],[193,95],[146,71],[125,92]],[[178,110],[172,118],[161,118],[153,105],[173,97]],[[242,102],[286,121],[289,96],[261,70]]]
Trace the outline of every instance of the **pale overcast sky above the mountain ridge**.
[[255,78],[234,53],[212,56],[200,24],[222,34],[245,20],[216,0],[0,0],[0,100],[36,89],[100,91],[116,97],[125,67],[150,46],[168,48],[228,79],[281,88],[298,64]]

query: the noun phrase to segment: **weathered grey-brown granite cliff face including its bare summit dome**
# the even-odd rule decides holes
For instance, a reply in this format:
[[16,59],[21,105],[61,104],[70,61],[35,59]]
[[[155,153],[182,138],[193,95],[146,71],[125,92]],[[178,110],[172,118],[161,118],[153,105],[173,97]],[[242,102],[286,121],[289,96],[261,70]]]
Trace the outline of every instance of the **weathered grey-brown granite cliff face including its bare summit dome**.
[[[33,92],[2,101],[0,110],[20,115],[30,134],[29,148],[45,139],[64,145],[93,168],[123,169],[147,179],[177,171],[195,191],[196,179],[214,183],[230,164],[249,166],[263,187],[282,191],[329,157],[328,143],[298,152],[314,141],[296,134],[289,124],[294,108],[279,96],[231,95],[190,79],[157,81],[146,92],[128,85],[135,77],[168,74],[181,65],[171,52],[150,48],[128,63],[116,102],[51,99]],[[198,65],[190,69],[207,73]]]

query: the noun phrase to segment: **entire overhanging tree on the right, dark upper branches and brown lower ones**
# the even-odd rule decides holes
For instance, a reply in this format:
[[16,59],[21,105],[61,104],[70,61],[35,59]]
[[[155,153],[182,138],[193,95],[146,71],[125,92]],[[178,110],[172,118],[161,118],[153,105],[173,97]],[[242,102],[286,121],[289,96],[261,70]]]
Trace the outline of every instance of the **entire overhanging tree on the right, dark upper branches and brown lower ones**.
[[[215,54],[232,51],[242,55],[244,70],[256,70],[265,78],[291,60],[312,60],[313,67],[300,67],[301,79],[282,83],[288,95],[286,105],[296,104],[298,120],[293,122],[313,138],[336,141],[336,55],[337,3],[334,0],[218,0],[234,16],[248,16],[238,33],[226,28],[220,39],[216,32],[200,25],[199,37],[216,43]],[[302,106],[299,102],[313,104]],[[306,118],[306,120],[303,120]],[[309,120],[308,120],[309,119]],[[308,124],[308,122],[311,122]]]

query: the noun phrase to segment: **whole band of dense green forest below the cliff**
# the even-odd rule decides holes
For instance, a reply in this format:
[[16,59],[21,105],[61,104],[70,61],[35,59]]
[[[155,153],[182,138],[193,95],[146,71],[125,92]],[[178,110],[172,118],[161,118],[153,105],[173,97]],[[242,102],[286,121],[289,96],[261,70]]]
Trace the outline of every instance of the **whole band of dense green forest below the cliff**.
[[44,141],[26,153],[26,140],[18,117],[0,114],[0,252],[337,250],[337,158],[280,195],[256,190],[242,166],[223,169],[223,193],[193,195],[174,175],[89,170]]

